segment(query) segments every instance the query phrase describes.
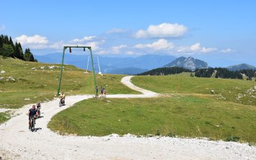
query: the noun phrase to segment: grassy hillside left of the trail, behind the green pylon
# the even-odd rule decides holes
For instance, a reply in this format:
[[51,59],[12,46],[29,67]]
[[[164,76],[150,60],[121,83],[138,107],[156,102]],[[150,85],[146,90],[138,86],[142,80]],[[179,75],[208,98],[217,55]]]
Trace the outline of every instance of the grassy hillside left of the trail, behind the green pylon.
[[[0,57],[0,70],[5,71],[4,74],[0,74],[0,77],[3,77],[0,80],[0,108],[20,108],[37,100],[52,99],[56,95],[60,68],[40,69],[42,66],[52,65]],[[33,67],[36,70],[31,70]],[[61,92],[65,92],[66,95],[94,93],[92,74],[84,74],[84,70],[72,65],[65,65],[64,69]],[[10,76],[15,81],[6,81]],[[120,83],[122,77],[110,74],[97,76],[97,84],[99,87],[105,86],[111,94],[138,93]]]

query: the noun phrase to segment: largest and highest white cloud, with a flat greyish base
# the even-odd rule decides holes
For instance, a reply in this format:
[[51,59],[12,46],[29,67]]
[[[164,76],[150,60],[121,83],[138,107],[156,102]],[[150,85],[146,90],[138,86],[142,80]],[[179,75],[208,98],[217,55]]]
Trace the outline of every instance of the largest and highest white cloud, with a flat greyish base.
[[164,38],[179,37],[184,35],[188,28],[182,24],[162,23],[159,25],[150,25],[147,30],[140,29],[135,33],[136,38]]

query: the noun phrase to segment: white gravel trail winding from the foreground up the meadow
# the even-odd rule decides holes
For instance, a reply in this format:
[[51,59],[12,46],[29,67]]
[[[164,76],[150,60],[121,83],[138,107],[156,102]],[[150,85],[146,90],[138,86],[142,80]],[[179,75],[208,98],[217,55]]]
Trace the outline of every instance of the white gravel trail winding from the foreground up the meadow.
[[[110,98],[146,98],[159,94],[122,79],[140,95],[107,95]],[[0,157],[3,159],[256,159],[256,147],[243,143],[181,139],[169,137],[136,138],[130,134],[119,137],[60,136],[47,128],[52,116],[76,102],[93,95],[68,96],[66,106],[58,107],[58,99],[42,104],[42,116],[36,120],[36,131],[28,129],[26,113],[31,105],[17,110],[17,116],[0,125]],[[1,158],[0,158],[1,159]]]

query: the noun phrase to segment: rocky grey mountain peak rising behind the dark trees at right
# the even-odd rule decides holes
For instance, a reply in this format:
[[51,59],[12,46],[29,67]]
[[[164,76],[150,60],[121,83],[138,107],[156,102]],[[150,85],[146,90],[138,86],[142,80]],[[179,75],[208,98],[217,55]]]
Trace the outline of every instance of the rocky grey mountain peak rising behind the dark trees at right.
[[208,64],[205,61],[197,60],[193,57],[180,57],[163,67],[183,67],[189,70],[195,70],[196,68],[208,68]]

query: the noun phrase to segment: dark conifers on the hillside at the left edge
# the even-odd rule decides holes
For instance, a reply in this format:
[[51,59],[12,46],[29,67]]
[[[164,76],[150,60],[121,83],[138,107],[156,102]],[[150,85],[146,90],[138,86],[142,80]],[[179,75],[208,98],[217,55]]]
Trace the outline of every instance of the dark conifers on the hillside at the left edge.
[[18,58],[24,61],[37,61],[29,48],[26,48],[25,52],[23,52],[20,43],[15,42],[15,44],[13,44],[12,37],[10,36],[9,38],[7,35],[0,36],[0,56],[4,58]]

